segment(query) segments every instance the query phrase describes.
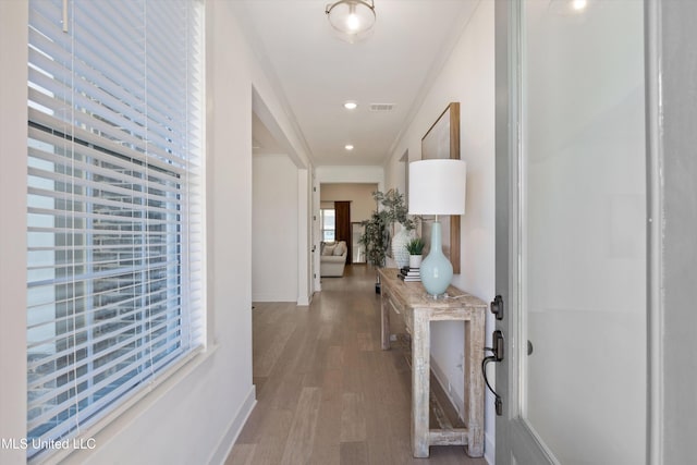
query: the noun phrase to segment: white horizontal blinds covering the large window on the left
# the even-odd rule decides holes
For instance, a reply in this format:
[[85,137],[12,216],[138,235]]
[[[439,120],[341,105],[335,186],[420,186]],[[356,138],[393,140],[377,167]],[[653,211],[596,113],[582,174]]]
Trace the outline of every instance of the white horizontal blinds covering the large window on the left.
[[205,343],[201,10],[29,1],[29,457]]

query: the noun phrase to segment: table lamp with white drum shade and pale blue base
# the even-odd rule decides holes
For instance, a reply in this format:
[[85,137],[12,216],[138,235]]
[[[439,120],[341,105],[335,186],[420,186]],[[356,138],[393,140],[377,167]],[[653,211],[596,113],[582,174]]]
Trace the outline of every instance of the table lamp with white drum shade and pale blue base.
[[463,160],[435,159],[409,163],[409,215],[435,215],[431,244],[421,261],[421,283],[433,298],[445,293],[453,266],[443,254],[439,215],[465,213],[467,164]]

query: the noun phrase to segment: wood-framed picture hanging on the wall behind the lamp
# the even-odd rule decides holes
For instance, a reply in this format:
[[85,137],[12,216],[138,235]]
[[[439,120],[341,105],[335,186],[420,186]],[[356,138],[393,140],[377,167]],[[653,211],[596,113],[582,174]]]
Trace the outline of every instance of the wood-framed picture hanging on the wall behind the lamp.
[[[438,117],[433,125],[421,137],[421,160],[452,158],[460,159],[460,102],[451,102]],[[425,217],[424,220],[429,219]],[[432,219],[432,218],[431,218]],[[453,273],[460,273],[460,216],[439,218],[443,231],[443,254],[453,266]],[[421,231],[426,247],[430,247],[430,228]],[[425,250],[424,255],[427,254]]]

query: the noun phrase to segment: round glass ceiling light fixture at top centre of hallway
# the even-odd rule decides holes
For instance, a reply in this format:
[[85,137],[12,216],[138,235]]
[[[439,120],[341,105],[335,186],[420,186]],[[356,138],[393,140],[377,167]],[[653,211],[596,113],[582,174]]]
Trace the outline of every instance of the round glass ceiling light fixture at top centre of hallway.
[[339,0],[328,4],[325,13],[339,37],[350,44],[372,34],[376,20],[372,0]]

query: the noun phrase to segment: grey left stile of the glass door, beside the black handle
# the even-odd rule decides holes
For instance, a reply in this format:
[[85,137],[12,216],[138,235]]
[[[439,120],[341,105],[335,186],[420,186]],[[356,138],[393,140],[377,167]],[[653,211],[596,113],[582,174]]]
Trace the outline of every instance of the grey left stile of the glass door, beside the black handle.
[[504,301],[504,318],[497,320],[496,329],[503,332],[506,354],[504,363],[497,364],[497,392],[503,397],[502,415],[496,419],[497,464],[510,464],[511,450],[515,450],[521,464],[553,464],[543,444],[530,433],[518,417],[521,399],[513,367],[518,366],[521,341],[519,303],[511,291],[518,281],[518,264],[513,254],[521,250],[518,235],[521,199],[516,186],[521,184],[518,155],[521,152],[521,89],[519,89],[519,2],[497,1],[496,23],[496,241],[508,244],[497,247],[496,294]]

